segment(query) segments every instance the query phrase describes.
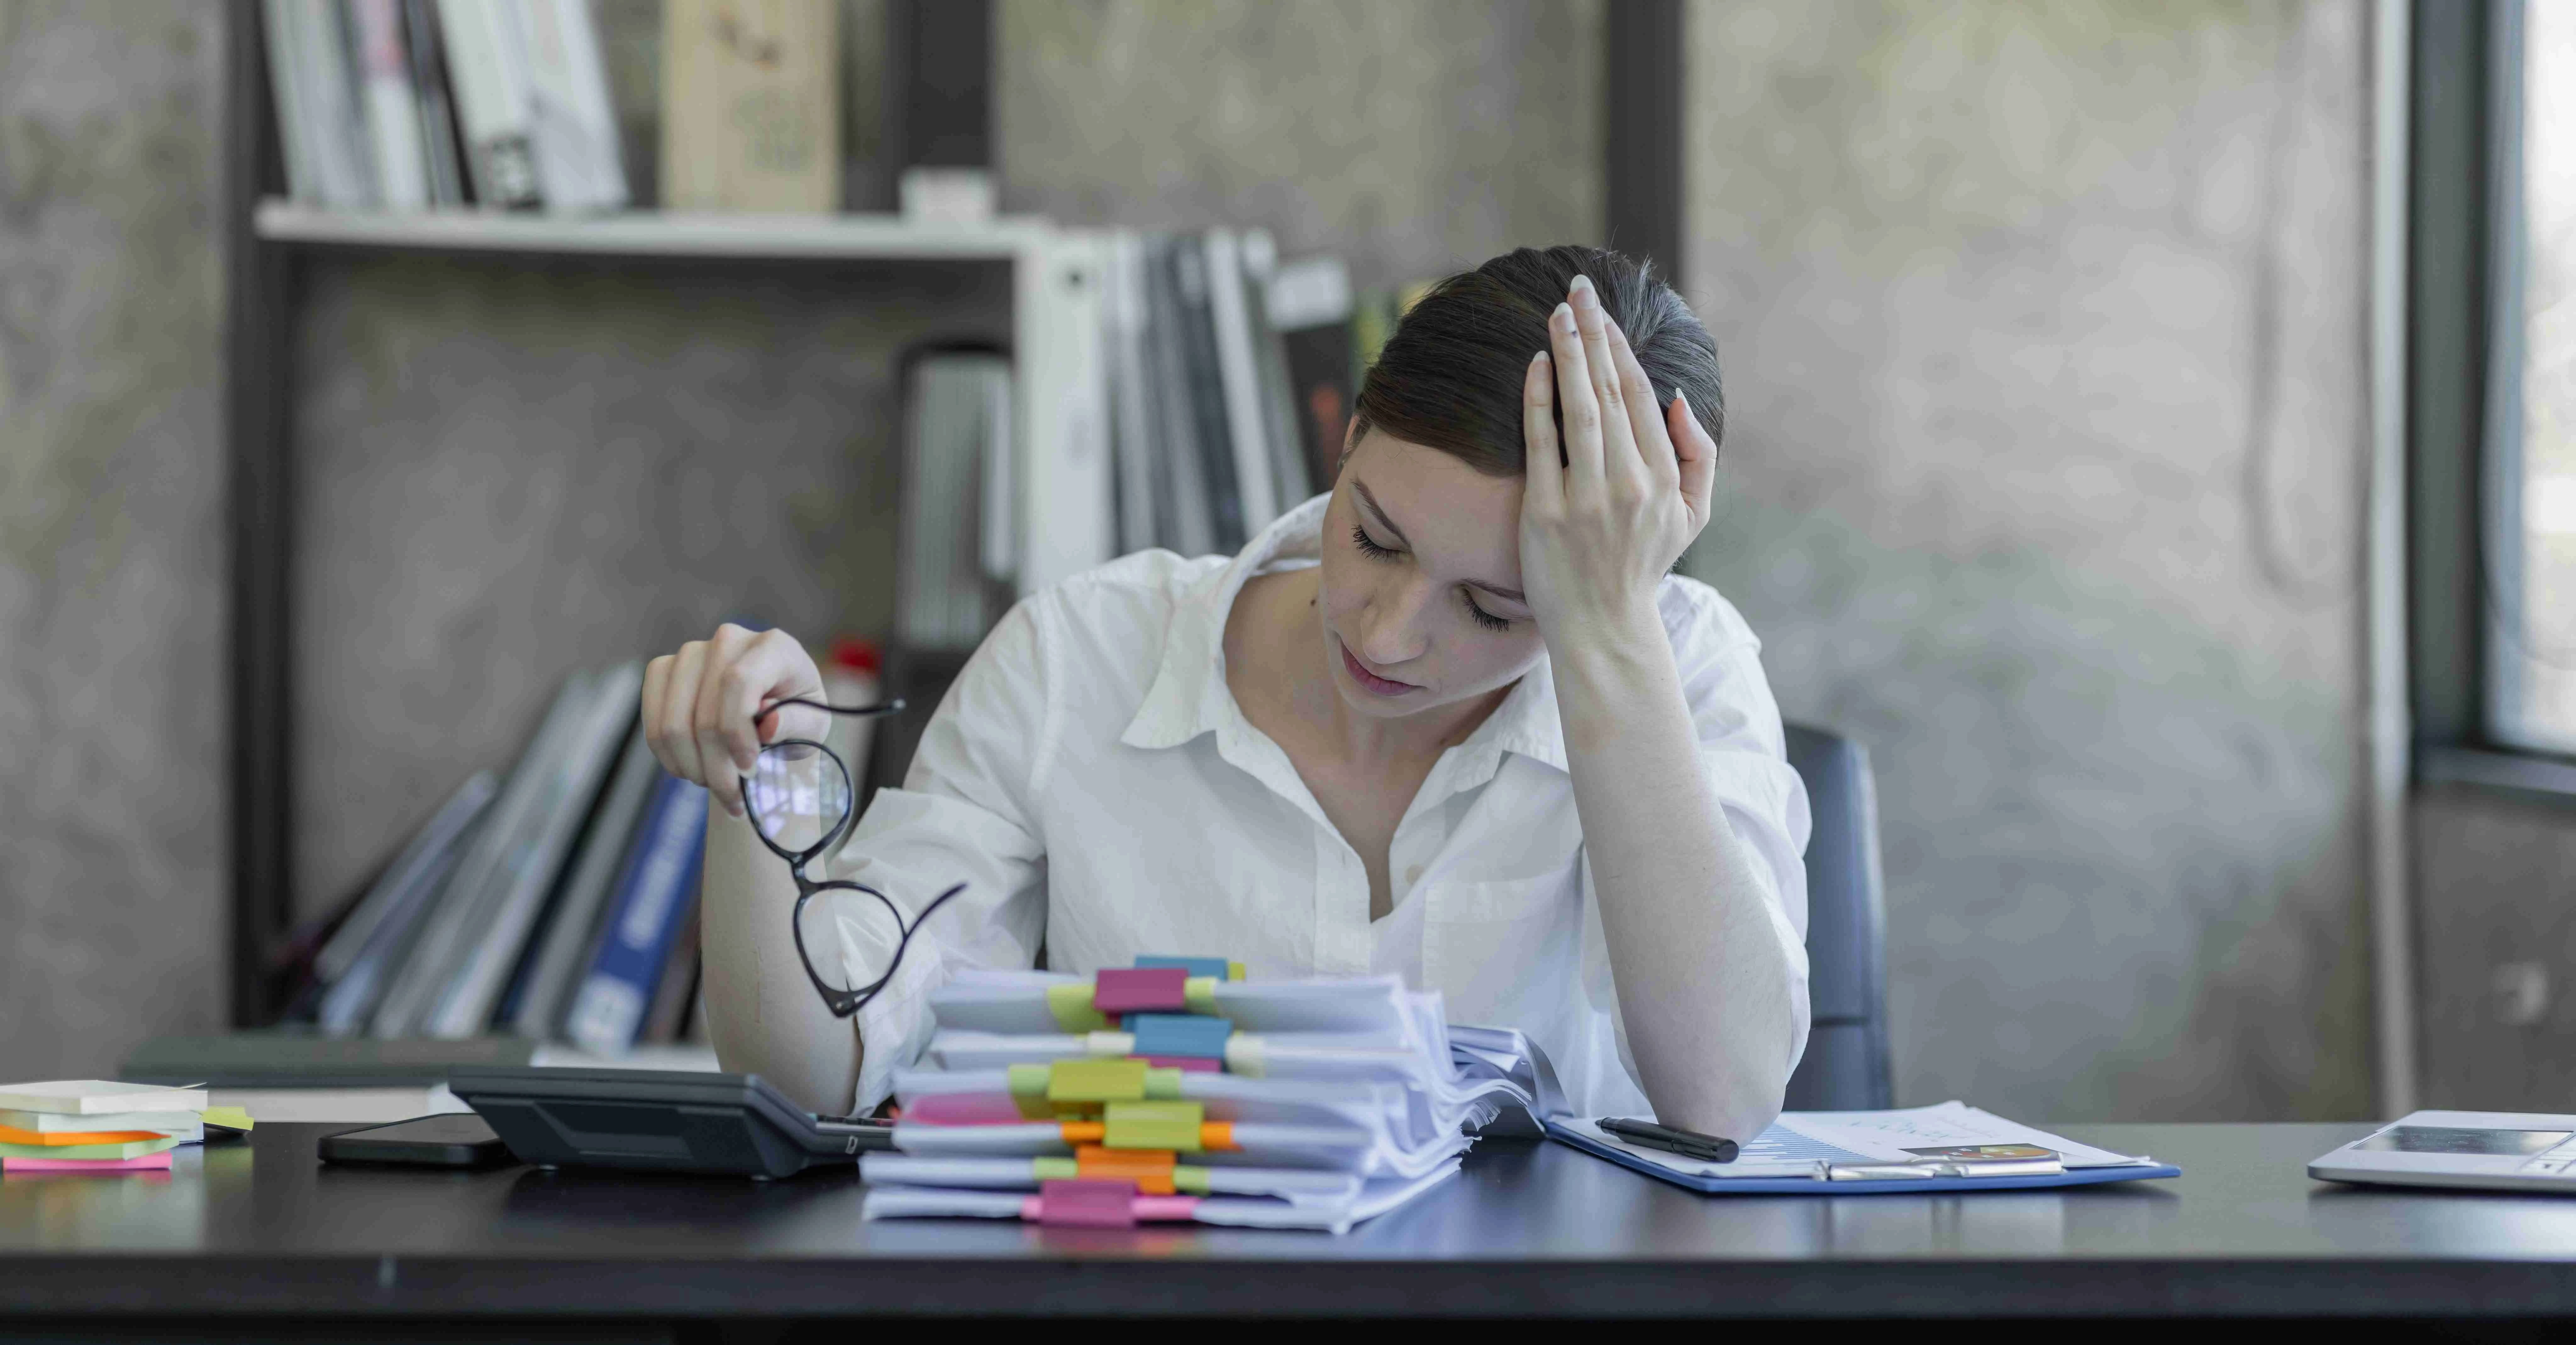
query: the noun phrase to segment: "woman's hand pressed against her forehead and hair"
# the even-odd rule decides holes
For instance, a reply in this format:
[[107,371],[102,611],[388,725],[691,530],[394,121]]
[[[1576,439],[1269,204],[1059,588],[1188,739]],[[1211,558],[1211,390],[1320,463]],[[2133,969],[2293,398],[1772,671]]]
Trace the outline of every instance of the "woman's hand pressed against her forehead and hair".
[[1620,634],[1662,642],[1654,590],[1708,526],[1718,446],[1680,394],[1654,405],[1654,384],[1589,276],[1577,276],[1548,317],[1548,345],[1520,397],[1520,582],[1530,613],[1556,654]]

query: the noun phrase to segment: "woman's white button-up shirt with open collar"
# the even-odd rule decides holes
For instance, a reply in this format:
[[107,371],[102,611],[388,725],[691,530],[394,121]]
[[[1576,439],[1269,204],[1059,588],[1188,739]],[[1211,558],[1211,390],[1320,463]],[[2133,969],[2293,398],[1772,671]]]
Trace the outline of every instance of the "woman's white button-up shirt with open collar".
[[[886,989],[860,1010],[858,1108],[930,1041],[927,995],[956,966],[1092,974],[1141,953],[1242,961],[1252,977],[1396,971],[1453,1023],[1525,1031],[1582,1116],[1643,1116],[1540,660],[1422,781],[1388,850],[1394,912],[1226,688],[1244,580],[1316,564],[1327,497],[1239,557],[1141,551],[1010,611],[930,719],[904,788],[878,791],[840,876],[907,912],[951,884]],[[1790,1062],[1806,1049],[1806,788],[1788,768],[1759,642],[1726,598],[1656,593],[1700,760],[1765,879],[1788,951]],[[850,948],[873,979],[889,951]],[[1718,953],[1710,977],[1726,977]]]

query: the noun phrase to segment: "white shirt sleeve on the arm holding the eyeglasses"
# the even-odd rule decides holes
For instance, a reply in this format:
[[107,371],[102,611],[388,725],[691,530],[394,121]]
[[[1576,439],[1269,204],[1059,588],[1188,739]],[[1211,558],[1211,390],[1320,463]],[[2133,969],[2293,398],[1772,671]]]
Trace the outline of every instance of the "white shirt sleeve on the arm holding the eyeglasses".
[[[930,992],[961,966],[1030,966],[1046,938],[1046,848],[1030,778],[1054,729],[1046,639],[1023,600],[966,660],[930,716],[904,788],[881,788],[840,845],[832,876],[881,889],[912,917],[930,912],[886,989],[858,1010],[866,1044],[853,1113],[881,1103],[894,1072],[930,1044]],[[853,977],[876,979],[894,959],[884,930],[842,930]]]

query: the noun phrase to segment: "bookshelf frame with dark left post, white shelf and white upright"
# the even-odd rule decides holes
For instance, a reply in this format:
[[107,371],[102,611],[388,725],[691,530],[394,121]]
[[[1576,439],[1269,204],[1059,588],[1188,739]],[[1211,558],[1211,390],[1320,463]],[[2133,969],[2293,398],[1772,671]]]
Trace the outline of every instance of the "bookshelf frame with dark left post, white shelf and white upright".
[[935,224],[891,214],[605,216],[430,211],[345,214],[283,198],[258,0],[232,0],[227,41],[227,837],[232,1023],[276,1002],[273,961],[294,902],[296,461],[294,332],[309,258],[448,253],[670,263],[904,265],[1012,271],[1018,585],[1033,593],[1115,554],[1103,273],[1110,237],[1046,219]]

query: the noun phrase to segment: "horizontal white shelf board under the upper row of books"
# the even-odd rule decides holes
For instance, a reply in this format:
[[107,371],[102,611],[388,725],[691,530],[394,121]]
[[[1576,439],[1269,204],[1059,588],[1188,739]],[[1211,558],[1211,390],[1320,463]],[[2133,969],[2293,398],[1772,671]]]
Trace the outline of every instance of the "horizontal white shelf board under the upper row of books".
[[1018,260],[1061,237],[1036,216],[920,224],[896,214],[361,214],[260,201],[268,242],[621,258]]

